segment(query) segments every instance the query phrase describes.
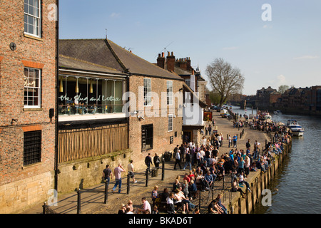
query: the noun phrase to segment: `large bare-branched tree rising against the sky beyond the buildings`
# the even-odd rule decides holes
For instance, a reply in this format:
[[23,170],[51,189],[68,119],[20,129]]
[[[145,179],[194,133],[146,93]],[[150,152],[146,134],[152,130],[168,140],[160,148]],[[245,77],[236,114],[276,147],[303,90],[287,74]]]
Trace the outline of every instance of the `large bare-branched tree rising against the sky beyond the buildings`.
[[240,69],[233,68],[223,58],[215,58],[206,68],[206,75],[213,87],[213,92],[220,95],[220,106],[228,97],[235,93],[242,93],[245,78]]

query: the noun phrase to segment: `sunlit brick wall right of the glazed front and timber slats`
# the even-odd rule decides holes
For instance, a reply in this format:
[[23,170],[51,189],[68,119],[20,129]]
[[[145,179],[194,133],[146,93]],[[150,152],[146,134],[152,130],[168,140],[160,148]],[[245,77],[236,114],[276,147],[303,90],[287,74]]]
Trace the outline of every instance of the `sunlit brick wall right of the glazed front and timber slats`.
[[[136,94],[136,110],[138,111],[138,115],[143,115],[138,106],[138,88],[139,86],[143,86],[143,76],[131,76],[129,78],[129,90]],[[183,88],[182,81],[175,81],[165,78],[151,78],[151,90],[152,92],[156,92],[158,97],[161,99],[161,92],[166,92],[166,81],[173,81],[173,93],[177,93],[180,88]],[[166,98],[166,97],[165,97]],[[143,103],[143,97],[141,97],[140,102]],[[166,100],[165,100],[166,101]],[[132,103],[133,104],[133,103]],[[156,100],[153,100],[153,104],[156,105]],[[173,108],[175,118],[173,118],[173,131],[168,132],[168,117],[162,117],[161,110],[159,111],[158,117],[147,117],[144,115],[145,120],[139,120],[136,115],[131,116],[129,119],[129,148],[133,150],[133,155],[131,157],[136,162],[136,168],[145,168],[146,165],[144,163],[145,157],[148,153],[151,153],[152,157],[157,152],[159,155],[164,153],[165,151],[173,151],[176,145],[180,145],[182,143],[182,125],[183,118],[178,116],[178,99],[175,98],[175,102],[173,102],[173,106],[165,105],[165,109],[167,113],[170,113],[170,108]],[[133,110],[134,105],[131,107],[131,111]],[[160,105],[161,107],[161,101]],[[151,111],[157,111],[157,108],[151,109]],[[141,126],[153,124],[153,149],[142,151],[141,146]],[[177,137],[175,137],[175,132],[177,133]],[[170,136],[173,136],[173,144],[170,144]]]

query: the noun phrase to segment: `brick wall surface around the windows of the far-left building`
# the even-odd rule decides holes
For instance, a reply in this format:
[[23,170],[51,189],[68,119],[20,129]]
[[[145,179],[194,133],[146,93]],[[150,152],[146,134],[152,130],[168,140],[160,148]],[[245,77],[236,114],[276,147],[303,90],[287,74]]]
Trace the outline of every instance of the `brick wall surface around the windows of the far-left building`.
[[[0,6],[0,187],[17,193],[24,183],[24,191],[0,197],[1,212],[39,203],[47,197],[47,190],[54,188],[55,120],[49,118],[49,109],[55,108],[56,102],[56,21],[49,21],[47,15],[49,4],[56,1],[41,2],[41,38],[24,33],[24,1],[1,1]],[[9,47],[11,42],[16,43],[15,51]],[[25,66],[41,69],[41,108],[24,108]],[[12,119],[17,121],[11,123]],[[24,131],[36,128],[42,131],[41,162],[26,167]],[[50,181],[44,182],[48,178]],[[35,180],[36,184],[28,183]]]

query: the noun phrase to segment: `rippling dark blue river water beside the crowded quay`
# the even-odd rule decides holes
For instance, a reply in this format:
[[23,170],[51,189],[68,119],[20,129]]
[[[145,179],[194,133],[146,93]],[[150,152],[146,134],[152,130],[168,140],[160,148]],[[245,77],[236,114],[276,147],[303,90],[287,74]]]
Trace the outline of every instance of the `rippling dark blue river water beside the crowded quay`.
[[[233,106],[234,113],[245,113]],[[246,110],[252,114],[252,109]],[[253,111],[256,114],[256,111]],[[255,214],[321,213],[321,118],[305,115],[272,115],[272,120],[287,123],[295,119],[305,129],[302,137],[292,139],[292,151],[268,187],[271,206],[261,203]]]

